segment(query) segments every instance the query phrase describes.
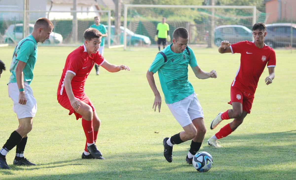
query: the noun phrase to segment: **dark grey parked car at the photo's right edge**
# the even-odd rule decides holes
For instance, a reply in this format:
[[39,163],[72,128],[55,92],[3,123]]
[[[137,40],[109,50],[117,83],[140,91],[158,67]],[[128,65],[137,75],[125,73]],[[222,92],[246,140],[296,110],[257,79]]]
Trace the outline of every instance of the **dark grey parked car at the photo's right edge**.
[[291,27],[292,44],[296,47],[296,24],[295,23],[274,23],[266,24],[267,36],[264,43],[272,48],[291,46]]

